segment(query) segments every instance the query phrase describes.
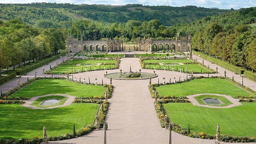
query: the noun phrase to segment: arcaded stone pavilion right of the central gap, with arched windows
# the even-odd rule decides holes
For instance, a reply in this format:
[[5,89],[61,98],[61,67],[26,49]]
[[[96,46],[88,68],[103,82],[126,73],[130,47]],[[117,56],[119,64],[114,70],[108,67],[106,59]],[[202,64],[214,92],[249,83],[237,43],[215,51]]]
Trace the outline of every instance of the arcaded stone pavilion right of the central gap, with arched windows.
[[136,41],[137,50],[142,51],[188,51],[191,48],[191,36],[176,37],[175,39],[140,39]]

